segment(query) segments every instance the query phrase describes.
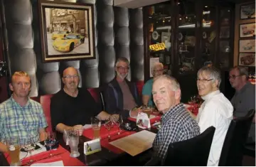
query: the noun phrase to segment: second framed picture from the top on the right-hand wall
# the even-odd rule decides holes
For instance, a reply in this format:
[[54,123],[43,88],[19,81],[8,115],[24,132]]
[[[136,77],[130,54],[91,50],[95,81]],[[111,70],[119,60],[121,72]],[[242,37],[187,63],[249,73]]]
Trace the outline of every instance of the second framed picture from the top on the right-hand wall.
[[255,36],[255,23],[241,23],[239,26],[239,37],[247,38]]

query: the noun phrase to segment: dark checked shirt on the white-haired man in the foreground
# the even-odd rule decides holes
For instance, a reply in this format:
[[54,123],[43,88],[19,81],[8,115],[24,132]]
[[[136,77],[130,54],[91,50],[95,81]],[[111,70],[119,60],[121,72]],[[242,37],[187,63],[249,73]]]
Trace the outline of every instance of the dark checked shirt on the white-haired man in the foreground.
[[154,156],[164,158],[170,143],[191,139],[199,134],[198,123],[182,103],[177,104],[161,118],[161,129],[153,142]]

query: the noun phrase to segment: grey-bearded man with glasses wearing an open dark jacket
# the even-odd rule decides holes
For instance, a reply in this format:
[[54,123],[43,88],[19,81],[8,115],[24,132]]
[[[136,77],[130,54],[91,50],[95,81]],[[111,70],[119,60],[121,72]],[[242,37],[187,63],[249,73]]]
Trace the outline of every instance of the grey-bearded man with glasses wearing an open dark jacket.
[[115,63],[116,77],[107,84],[104,91],[106,111],[111,114],[121,114],[123,118],[136,117],[141,100],[135,83],[126,77],[129,72],[127,58],[118,58]]

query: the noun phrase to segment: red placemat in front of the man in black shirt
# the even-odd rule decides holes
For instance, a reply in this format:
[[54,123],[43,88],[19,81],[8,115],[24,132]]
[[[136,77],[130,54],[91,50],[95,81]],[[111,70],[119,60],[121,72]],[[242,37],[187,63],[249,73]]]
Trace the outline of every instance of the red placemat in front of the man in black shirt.
[[[110,129],[110,136],[114,135],[114,134],[117,134],[119,131],[119,128],[117,125],[114,125],[111,129]],[[92,131],[92,128],[90,129],[85,129],[83,132],[82,132],[82,135],[89,138],[89,139],[93,139],[93,131]],[[107,138],[108,136],[108,132],[107,132],[107,129],[105,128],[104,125],[102,125],[100,127],[100,138],[101,139],[105,139]]]

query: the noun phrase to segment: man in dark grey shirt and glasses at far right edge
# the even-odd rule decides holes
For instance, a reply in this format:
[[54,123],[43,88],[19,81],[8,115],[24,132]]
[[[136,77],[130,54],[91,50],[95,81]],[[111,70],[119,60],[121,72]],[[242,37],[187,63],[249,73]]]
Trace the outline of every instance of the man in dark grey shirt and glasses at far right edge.
[[[245,67],[235,66],[230,70],[230,85],[235,89],[231,99],[234,107],[234,118],[245,117],[250,109],[255,109],[255,85],[248,81],[248,71]],[[248,143],[255,143],[255,117],[252,121]]]

